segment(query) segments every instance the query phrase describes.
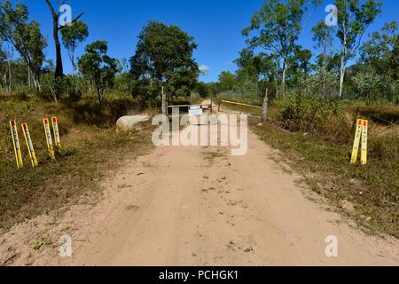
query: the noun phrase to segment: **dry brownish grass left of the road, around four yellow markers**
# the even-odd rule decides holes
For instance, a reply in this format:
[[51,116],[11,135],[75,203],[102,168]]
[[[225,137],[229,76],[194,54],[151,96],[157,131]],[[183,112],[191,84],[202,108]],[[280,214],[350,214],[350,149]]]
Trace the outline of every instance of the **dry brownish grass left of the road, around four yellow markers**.
[[[0,96],[1,97],[1,96]],[[0,100],[0,232],[12,225],[51,209],[77,201],[88,191],[100,192],[101,178],[111,169],[129,159],[145,154],[152,148],[151,127],[125,133],[117,132],[117,116],[135,113],[134,101],[108,101],[99,108],[95,98],[74,105],[59,102],[54,105],[34,98],[17,96]],[[87,106],[87,107],[86,107]],[[43,133],[43,117],[58,116],[63,150],[57,161],[47,158]],[[27,146],[20,131],[24,168],[16,169],[10,119],[18,125],[27,122],[35,146],[39,166],[30,165]]]

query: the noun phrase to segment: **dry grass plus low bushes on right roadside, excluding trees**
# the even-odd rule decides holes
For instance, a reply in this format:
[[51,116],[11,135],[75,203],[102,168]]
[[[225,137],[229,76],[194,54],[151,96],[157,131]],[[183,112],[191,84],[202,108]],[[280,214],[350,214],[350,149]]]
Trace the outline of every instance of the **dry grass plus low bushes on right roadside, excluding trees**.
[[281,99],[270,107],[267,122],[253,125],[254,131],[282,151],[287,158],[283,160],[301,172],[312,191],[357,224],[372,233],[399,237],[399,126],[374,116],[395,117],[397,122],[399,109],[390,104],[380,112],[360,107],[359,117],[370,124],[368,163],[350,165],[358,106],[354,104],[300,96]]

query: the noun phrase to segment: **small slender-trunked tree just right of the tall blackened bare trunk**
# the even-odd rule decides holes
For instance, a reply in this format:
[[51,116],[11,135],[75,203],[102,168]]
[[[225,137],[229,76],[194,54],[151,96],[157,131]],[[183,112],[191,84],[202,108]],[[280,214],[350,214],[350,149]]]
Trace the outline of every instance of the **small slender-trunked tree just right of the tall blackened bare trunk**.
[[76,70],[74,62],[74,51],[79,43],[82,43],[89,36],[89,29],[82,20],[75,21],[71,26],[66,26],[61,29],[62,42],[68,51],[69,59],[72,63],[72,68]]

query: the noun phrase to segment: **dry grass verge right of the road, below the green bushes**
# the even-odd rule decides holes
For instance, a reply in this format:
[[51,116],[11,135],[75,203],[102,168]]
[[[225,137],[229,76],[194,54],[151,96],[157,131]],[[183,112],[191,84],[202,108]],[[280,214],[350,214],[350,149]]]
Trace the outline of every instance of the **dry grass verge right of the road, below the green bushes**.
[[278,111],[278,106],[272,107],[269,122],[254,124],[255,132],[287,155],[287,162],[301,171],[313,191],[357,224],[371,233],[399,237],[399,127],[370,120],[368,164],[350,165],[351,111],[325,121],[328,131],[316,127],[306,133],[281,128]]

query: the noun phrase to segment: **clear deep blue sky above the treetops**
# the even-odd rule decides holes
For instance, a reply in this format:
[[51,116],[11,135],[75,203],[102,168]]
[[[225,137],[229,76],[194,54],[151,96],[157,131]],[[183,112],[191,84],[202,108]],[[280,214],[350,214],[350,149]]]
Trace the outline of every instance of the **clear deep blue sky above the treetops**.
[[[15,1],[13,1],[15,2]],[[55,59],[52,41],[51,13],[44,0],[24,0],[30,18],[41,24],[43,35],[48,38],[46,56]],[[56,4],[57,1],[52,0]],[[109,54],[115,58],[129,59],[135,52],[137,35],[149,20],[159,20],[167,24],[176,24],[184,29],[199,48],[194,57],[199,65],[208,67],[206,75],[201,75],[204,82],[216,81],[222,71],[234,71],[232,63],[239,56],[239,51],[246,47],[241,31],[246,28],[254,12],[264,0],[69,0],[73,17],[85,12],[82,17],[90,30],[90,36],[77,50],[82,54],[84,45],[96,40],[106,40]],[[318,20],[324,20],[327,13],[325,6],[332,4],[327,0],[304,19],[300,44],[312,49],[311,28]],[[383,12],[372,24],[368,32],[378,29],[387,21],[399,20],[399,0],[383,1]],[[319,51],[314,52],[318,54]],[[314,55],[315,55],[314,54]],[[64,68],[71,72],[71,65],[63,50]]]

